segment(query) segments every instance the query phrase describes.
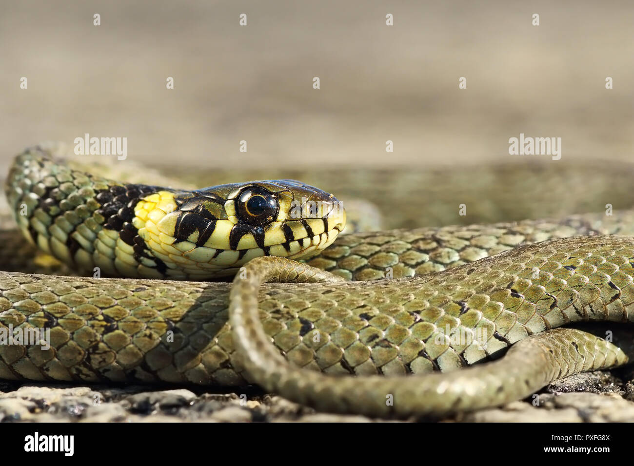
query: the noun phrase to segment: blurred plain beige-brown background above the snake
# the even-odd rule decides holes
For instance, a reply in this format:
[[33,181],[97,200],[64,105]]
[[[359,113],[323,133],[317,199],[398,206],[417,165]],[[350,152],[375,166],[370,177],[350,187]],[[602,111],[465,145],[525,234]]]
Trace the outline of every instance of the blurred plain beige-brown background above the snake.
[[0,5],[3,173],[25,146],[84,133],[191,167],[508,161],[519,133],[561,137],[562,159],[633,152],[628,1]]

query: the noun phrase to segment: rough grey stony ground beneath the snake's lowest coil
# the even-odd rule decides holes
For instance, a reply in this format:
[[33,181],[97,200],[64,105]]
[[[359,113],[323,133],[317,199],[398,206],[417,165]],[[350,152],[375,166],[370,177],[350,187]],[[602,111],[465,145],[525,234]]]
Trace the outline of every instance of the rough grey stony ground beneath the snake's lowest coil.
[[[623,382],[626,380],[626,382]],[[247,391],[248,392],[248,391]],[[538,406],[516,401],[446,422],[634,422],[634,370],[562,379],[538,394]],[[415,419],[410,419],[415,420]],[[425,419],[434,420],[434,419]],[[60,386],[0,382],[0,422],[376,422],[316,413],[279,396],[200,389]]]

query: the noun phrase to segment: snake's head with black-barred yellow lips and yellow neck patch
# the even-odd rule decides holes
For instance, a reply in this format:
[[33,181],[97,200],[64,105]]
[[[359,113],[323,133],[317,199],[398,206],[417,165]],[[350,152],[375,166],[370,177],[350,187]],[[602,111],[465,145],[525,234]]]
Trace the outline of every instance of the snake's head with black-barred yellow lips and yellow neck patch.
[[290,179],[159,191],[135,209],[138,233],[168,278],[233,275],[254,257],[306,259],[346,225],[332,194]]

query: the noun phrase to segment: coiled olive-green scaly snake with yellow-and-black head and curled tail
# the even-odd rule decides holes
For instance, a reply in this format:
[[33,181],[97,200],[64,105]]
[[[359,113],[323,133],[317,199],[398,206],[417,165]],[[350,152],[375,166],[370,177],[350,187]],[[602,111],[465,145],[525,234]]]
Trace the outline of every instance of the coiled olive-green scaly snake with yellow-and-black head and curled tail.
[[[627,360],[557,327],[634,321],[634,240],[607,236],[628,233],[629,211],[335,241],[345,213],[310,186],[126,185],[38,148],[16,158],[7,191],[25,238],[75,268],[128,278],[0,272],[0,330],[48,328],[51,339],[0,345],[3,379],[255,382],[323,410],[408,416],[500,405]],[[306,200],[325,207],[307,214]],[[590,236],[562,238],[573,235]],[[287,259],[321,249],[308,264]],[[344,281],[387,268],[395,278]],[[236,269],[233,284],[152,279]]]

